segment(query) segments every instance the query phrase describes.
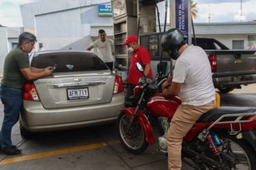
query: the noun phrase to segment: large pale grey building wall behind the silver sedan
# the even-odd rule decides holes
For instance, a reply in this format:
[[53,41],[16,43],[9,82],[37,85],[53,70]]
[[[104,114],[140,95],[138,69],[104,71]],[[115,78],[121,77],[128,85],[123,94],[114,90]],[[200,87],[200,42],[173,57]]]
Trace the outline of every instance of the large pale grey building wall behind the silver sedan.
[[[98,29],[104,29],[109,36],[113,36],[112,16],[98,15],[98,4],[109,4],[106,2],[110,1],[63,0],[60,4],[60,1],[44,0],[28,3],[21,6],[21,13],[28,7],[33,8],[30,15],[34,15],[34,18],[32,20],[30,16],[22,15],[24,29],[34,29],[36,50],[86,50],[93,37],[98,37]],[[58,5],[60,7],[53,8]],[[39,48],[39,43],[42,48]]]

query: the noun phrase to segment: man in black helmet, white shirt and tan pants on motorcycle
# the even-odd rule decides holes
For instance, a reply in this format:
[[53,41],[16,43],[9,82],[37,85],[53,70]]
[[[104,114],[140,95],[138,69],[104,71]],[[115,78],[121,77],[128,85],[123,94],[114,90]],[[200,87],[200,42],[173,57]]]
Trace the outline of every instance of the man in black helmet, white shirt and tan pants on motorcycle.
[[168,169],[176,170],[181,169],[183,137],[201,115],[216,107],[215,90],[208,56],[201,47],[185,43],[181,30],[168,30],[161,45],[176,60],[173,77],[162,85],[163,96],[182,100],[167,132]]

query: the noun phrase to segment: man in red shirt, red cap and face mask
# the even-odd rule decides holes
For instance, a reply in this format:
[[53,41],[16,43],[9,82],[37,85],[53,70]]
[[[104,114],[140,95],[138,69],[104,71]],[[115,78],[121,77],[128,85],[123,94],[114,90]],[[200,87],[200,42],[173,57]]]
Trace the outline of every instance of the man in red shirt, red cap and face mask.
[[134,95],[134,86],[138,84],[138,80],[143,76],[137,70],[135,63],[138,62],[143,66],[145,76],[153,78],[153,74],[150,66],[150,54],[145,47],[138,44],[137,36],[127,36],[127,39],[122,45],[127,45],[128,52],[132,52],[128,76],[124,81],[127,83],[127,98],[129,98],[129,96]]

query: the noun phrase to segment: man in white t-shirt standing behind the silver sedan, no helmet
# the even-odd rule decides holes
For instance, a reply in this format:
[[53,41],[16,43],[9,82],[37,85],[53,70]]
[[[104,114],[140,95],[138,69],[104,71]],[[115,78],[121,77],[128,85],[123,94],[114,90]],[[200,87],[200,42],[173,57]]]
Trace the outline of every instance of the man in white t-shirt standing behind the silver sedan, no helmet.
[[107,34],[104,30],[99,30],[99,39],[94,41],[93,44],[87,48],[87,50],[97,48],[98,56],[107,66],[113,70],[113,40],[107,39]]

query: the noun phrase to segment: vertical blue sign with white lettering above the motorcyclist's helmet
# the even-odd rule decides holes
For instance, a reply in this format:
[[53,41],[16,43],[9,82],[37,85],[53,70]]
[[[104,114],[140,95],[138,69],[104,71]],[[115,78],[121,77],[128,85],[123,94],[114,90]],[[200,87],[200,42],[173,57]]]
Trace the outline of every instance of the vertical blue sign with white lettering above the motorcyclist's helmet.
[[175,4],[176,28],[184,32],[188,43],[188,0],[176,0]]

